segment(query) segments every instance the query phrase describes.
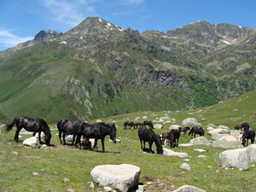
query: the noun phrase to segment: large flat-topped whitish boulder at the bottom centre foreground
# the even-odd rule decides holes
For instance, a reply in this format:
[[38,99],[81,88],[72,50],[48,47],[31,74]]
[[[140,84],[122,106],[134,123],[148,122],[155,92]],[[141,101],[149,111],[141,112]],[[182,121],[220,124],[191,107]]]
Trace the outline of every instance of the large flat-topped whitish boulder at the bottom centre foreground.
[[141,169],[129,164],[96,166],[90,176],[100,186],[110,186],[119,191],[129,191],[137,185]]

